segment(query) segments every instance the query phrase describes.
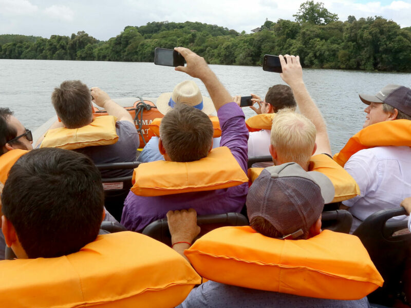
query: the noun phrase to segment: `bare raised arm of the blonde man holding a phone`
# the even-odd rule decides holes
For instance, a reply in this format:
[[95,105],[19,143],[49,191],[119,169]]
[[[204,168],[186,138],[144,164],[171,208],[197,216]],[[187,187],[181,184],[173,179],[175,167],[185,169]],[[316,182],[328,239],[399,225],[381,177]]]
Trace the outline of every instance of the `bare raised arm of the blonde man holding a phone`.
[[283,73],[281,73],[280,76],[291,87],[301,114],[310,119],[317,130],[315,136],[317,149],[314,155],[321,153],[331,155],[327,126],[323,116],[321,115],[320,109],[318,109],[315,105],[305,87],[303,81],[303,69],[300,64],[300,56],[286,54],[285,58],[287,59],[287,62],[284,60],[284,56],[279,56],[279,61],[281,62],[281,67],[283,68]]

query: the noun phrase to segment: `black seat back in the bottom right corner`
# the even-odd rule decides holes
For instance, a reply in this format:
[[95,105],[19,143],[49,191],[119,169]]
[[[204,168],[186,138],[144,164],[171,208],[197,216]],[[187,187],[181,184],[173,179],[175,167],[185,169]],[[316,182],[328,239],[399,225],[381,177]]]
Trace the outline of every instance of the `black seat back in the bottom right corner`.
[[384,278],[384,285],[368,296],[372,303],[392,306],[397,294],[402,292],[402,275],[411,256],[411,233],[394,235],[407,229],[406,220],[387,222],[400,215],[406,215],[403,207],[380,210],[365,219],[353,233],[360,238]]

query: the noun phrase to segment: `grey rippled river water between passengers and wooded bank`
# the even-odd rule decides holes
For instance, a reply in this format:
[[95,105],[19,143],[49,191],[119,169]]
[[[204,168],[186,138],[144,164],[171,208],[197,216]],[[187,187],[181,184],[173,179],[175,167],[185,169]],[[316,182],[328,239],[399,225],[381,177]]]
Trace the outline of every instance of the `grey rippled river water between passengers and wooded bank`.
[[[211,65],[232,95],[255,93],[264,98],[268,88],[284,84],[277,73],[261,67]],[[332,152],[362,128],[364,105],[358,93],[377,93],[387,84],[411,86],[410,73],[380,73],[327,69],[304,69],[304,81],[311,97],[327,122]],[[0,60],[0,106],[9,107],[31,130],[51,118],[54,109],[50,95],[65,80],[78,79],[89,87],[98,86],[112,98],[158,97],[171,92],[184,80],[195,80],[172,67],[153,63]],[[196,80],[203,95],[206,88]],[[247,117],[254,114],[243,108]]]

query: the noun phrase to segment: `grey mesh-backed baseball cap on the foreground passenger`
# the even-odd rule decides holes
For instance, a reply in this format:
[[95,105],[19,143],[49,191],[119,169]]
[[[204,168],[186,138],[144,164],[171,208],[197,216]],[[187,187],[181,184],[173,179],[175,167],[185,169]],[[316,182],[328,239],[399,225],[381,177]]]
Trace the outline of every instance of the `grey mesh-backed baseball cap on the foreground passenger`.
[[263,217],[283,236],[297,237],[319,219],[334,194],[330,179],[320,172],[307,172],[297,163],[272,166],[251,185],[247,215],[250,220]]

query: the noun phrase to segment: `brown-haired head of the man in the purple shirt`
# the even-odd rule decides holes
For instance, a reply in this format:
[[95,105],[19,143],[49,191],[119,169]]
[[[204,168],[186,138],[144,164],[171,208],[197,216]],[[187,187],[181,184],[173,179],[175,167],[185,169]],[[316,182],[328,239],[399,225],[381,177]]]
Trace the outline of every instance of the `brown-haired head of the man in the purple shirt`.
[[213,124],[201,110],[177,104],[161,120],[160,138],[172,161],[196,161],[206,157],[213,145]]

